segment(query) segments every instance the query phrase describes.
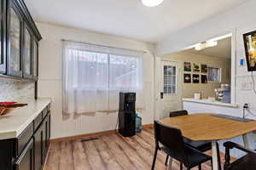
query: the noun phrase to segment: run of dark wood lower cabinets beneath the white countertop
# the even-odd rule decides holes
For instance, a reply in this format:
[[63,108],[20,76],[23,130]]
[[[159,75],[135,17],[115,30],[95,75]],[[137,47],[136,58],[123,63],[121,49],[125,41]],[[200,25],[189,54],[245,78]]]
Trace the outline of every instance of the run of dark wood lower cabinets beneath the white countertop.
[[50,112],[44,117],[41,115],[39,125],[38,117],[36,127],[35,121],[32,122],[32,135],[26,135],[30,132],[30,124],[19,138],[0,140],[0,170],[42,170],[49,149]]

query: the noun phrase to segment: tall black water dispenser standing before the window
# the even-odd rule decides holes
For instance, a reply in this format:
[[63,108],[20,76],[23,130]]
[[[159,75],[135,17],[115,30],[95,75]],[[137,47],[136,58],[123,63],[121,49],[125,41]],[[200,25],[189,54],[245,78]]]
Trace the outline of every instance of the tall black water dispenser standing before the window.
[[136,134],[136,93],[119,93],[119,133],[124,137]]

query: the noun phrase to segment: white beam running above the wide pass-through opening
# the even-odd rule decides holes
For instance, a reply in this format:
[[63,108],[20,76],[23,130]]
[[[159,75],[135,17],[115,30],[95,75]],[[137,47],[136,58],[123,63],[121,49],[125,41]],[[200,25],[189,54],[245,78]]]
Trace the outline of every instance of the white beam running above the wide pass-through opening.
[[255,8],[256,1],[249,0],[224,14],[218,14],[208,20],[196,23],[194,26],[166,36],[166,39],[157,45],[157,54],[160,56],[177,52],[192,44],[234,32],[237,28],[251,26],[256,17]]

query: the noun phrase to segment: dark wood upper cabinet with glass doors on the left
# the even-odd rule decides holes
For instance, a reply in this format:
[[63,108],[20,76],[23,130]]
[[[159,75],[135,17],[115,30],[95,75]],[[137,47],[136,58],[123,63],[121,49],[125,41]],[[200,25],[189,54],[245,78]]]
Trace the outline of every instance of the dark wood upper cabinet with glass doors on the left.
[[0,6],[0,77],[37,81],[38,28],[23,0],[2,0]]

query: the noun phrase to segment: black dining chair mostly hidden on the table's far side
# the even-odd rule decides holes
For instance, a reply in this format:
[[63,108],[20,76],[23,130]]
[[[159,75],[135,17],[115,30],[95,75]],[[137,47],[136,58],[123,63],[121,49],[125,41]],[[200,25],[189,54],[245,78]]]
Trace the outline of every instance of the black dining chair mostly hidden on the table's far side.
[[[186,116],[189,115],[189,112],[186,110],[182,111],[172,111],[170,112],[170,117],[175,117],[175,116]],[[190,140],[188,138],[183,137],[183,141],[185,144],[189,144],[191,147],[195,148],[196,150],[200,150],[201,152],[206,152],[207,150],[212,150],[212,142],[207,141],[207,140],[202,140],[202,141],[194,141]],[[218,169],[221,170],[221,162],[220,162],[220,155],[219,155],[219,148],[218,148],[218,143],[217,143],[217,154],[218,154]],[[166,156],[166,165],[168,162],[169,156]]]

